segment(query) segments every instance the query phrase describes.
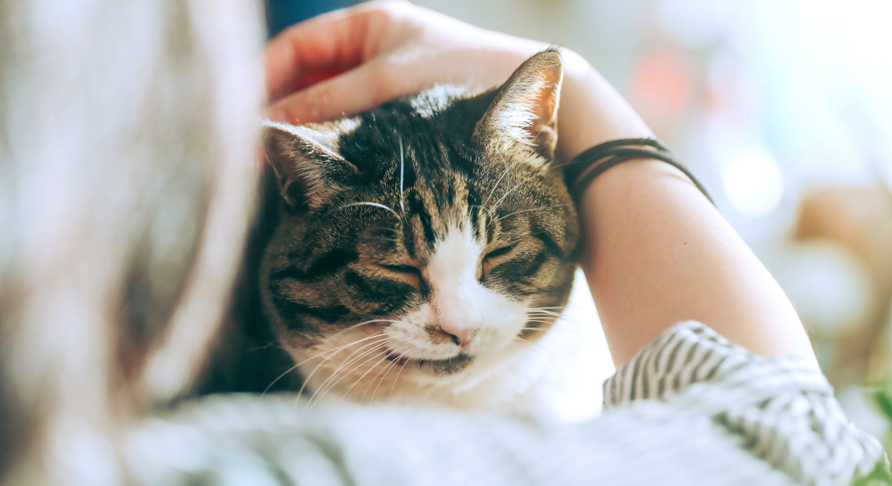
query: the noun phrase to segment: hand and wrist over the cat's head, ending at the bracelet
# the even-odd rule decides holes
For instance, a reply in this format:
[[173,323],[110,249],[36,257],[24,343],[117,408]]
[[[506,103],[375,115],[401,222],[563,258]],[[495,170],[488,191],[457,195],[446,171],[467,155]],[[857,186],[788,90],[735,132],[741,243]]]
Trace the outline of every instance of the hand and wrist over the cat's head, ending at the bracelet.
[[[291,123],[335,119],[435,83],[504,82],[548,45],[480,29],[401,0],[329,12],[286,29],[264,54],[268,117]],[[572,158],[612,138],[650,131],[582,56],[563,51],[558,154]]]

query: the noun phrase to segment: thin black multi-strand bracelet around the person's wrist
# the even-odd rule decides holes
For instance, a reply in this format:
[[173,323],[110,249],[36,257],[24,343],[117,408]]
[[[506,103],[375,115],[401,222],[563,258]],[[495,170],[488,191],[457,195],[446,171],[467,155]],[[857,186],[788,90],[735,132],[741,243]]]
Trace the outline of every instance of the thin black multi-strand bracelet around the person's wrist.
[[[640,148],[641,145],[647,148]],[[681,170],[681,173],[690,178],[690,181],[697,186],[709,202],[713,202],[713,198],[706,192],[706,188],[700,184],[697,177],[694,177],[684,165],[675,158],[675,155],[664,144],[653,138],[624,138],[621,140],[611,140],[603,144],[595,145],[591,149],[580,153],[576,158],[568,163],[564,168],[564,179],[570,195],[576,205],[582,200],[582,193],[585,188],[591,184],[595,177],[600,176],[605,170],[619,165],[624,161],[632,161],[635,159],[656,159],[664,161],[673,166],[675,169]]]

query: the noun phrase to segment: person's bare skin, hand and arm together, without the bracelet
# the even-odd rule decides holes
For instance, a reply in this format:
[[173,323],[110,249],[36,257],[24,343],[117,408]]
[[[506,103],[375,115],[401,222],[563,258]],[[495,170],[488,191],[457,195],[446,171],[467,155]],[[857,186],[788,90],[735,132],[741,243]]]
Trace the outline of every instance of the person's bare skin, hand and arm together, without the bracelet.
[[[272,119],[305,123],[368,110],[434,83],[495,86],[547,45],[478,29],[407,2],[327,13],[265,53]],[[652,136],[598,71],[564,50],[558,155]],[[582,268],[617,366],[667,327],[694,319],[767,357],[815,362],[796,311],[764,266],[681,172],[629,161],[589,186]]]

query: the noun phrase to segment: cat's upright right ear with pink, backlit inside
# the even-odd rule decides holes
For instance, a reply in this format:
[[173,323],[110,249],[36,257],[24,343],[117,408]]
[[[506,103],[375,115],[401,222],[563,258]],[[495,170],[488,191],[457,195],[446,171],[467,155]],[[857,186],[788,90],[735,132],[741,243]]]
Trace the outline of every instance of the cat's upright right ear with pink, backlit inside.
[[527,59],[498,88],[477,123],[475,138],[497,150],[508,148],[507,144],[527,145],[551,160],[558,143],[562,66],[560,54],[554,49]]

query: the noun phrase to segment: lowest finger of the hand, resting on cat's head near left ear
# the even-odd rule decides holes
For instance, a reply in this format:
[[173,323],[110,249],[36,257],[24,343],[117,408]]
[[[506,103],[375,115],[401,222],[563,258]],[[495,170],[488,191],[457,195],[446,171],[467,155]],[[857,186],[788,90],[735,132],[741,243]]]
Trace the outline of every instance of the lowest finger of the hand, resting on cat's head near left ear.
[[378,63],[368,62],[272,103],[267,116],[301,124],[369,110],[393,97],[386,77]]

